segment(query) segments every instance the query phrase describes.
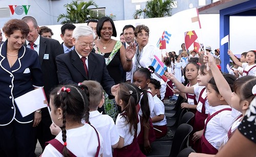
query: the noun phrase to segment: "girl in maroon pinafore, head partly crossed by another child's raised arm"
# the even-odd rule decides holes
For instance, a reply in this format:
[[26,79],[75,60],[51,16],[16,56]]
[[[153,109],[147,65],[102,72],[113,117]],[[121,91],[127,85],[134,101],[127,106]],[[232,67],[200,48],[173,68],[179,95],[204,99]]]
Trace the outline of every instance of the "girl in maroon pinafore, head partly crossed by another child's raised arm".
[[[223,74],[223,77],[232,87],[236,77],[231,74]],[[216,154],[223,144],[234,118],[231,116],[231,107],[220,94],[214,78],[208,82],[207,99],[210,106],[209,116],[205,121],[204,129],[196,132],[192,140],[200,138],[201,151],[197,152]]]

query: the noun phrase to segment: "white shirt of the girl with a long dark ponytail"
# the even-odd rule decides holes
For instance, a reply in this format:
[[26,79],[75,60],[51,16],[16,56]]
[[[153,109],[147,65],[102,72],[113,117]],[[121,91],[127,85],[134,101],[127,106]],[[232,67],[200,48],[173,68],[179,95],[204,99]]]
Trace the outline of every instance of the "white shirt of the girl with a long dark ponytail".
[[[138,114],[137,114],[138,115]],[[140,133],[140,118],[138,115],[138,129],[137,137]],[[129,132],[130,124],[127,124],[125,118],[119,113],[116,118],[116,127],[120,137],[124,138],[124,145],[127,146],[133,142],[134,139],[134,129],[132,128],[132,134]]]

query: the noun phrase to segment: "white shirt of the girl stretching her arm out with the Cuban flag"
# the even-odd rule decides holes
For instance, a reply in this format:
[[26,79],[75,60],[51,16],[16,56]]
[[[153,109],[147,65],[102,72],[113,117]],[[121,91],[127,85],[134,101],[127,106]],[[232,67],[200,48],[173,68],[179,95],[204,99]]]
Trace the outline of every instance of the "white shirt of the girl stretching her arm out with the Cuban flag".
[[[194,87],[194,92],[195,92],[196,96],[198,97],[198,99],[197,99],[197,111],[200,112],[200,113],[202,113],[203,103],[199,101],[199,94],[204,88],[205,88],[204,86],[195,86]],[[204,90],[204,92],[202,94],[202,98],[206,98],[206,89]],[[205,114],[209,114],[208,99],[205,100],[204,107],[205,107]]]

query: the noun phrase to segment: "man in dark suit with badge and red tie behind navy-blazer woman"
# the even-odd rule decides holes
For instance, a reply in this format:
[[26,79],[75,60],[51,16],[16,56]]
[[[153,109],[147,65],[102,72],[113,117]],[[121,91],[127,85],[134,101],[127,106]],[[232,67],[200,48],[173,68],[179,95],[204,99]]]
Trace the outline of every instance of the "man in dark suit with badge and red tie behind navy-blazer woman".
[[[55,59],[56,56],[63,54],[63,51],[57,40],[39,36],[39,27],[35,18],[31,16],[25,16],[22,18],[22,20],[29,25],[30,32],[26,38],[26,46],[37,51],[43,74],[44,89],[49,102],[50,90],[58,85],[57,66]],[[42,149],[44,150],[45,142],[50,141],[55,137],[51,134],[50,131],[50,125],[52,124],[52,120],[48,108],[41,109],[41,117],[41,122],[38,126],[35,127],[35,140],[37,141],[38,139]]]

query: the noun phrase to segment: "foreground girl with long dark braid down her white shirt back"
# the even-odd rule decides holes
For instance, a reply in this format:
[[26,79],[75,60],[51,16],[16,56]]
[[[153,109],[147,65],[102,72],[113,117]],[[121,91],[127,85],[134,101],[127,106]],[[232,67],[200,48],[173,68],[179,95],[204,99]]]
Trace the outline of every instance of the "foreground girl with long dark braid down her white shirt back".
[[[51,118],[62,127],[62,132],[48,142],[41,156],[102,154],[102,137],[89,124],[89,92],[86,86],[56,87],[50,94],[50,108]],[[87,123],[82,123],[82,119]]]

